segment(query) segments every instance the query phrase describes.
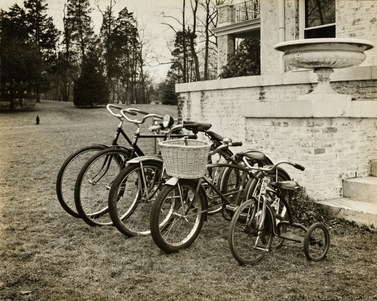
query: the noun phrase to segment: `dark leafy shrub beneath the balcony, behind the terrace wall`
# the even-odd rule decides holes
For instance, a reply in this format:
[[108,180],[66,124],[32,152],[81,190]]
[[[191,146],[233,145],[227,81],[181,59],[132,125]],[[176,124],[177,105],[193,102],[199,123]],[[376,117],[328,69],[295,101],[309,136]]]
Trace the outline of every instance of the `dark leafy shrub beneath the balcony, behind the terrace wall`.
[[261,43],[255,39],[243,40],[235,54],[228,56],[220,78],[261,74]]

